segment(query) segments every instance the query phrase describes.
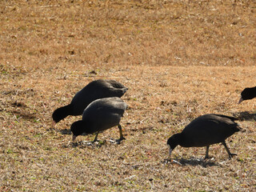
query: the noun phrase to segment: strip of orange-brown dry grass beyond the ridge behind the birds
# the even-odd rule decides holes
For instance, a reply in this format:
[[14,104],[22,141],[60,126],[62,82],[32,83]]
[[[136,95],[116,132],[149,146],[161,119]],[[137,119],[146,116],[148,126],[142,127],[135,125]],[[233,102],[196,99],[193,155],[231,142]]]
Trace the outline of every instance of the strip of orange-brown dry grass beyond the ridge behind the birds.
[[0,58],[29,66],[250,66],[254,1],[1,2]]

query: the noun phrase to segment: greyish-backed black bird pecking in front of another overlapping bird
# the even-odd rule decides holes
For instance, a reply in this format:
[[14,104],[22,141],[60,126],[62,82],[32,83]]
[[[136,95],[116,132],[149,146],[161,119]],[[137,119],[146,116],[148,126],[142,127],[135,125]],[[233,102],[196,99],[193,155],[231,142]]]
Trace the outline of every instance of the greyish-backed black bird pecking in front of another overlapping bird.
[[117,139],[117,142],[120,143],[122,139],[125,139],[122,135],[120,120],[126,108],[126,102],[123,102],[118,97],[99,98],[91,102],[84,110],[82,120],[71,125],[70,130],[73,133],[73,142],[78,135],[94,133],[96,133],[96,136],[93,142],[96,142],[99,132],[118,126],[120,138]]

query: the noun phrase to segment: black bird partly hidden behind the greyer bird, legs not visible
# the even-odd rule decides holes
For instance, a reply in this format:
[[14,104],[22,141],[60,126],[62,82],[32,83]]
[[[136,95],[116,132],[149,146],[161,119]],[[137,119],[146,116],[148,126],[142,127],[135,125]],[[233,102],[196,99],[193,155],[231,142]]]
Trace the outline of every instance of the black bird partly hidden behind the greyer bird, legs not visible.
[[90,82],[82,90],[74,95],[74,98],[67,106],[62,106],[54,110],[52,115],[54,122],[57,123],[68,115],[81,115],[86,106],[98,98],[121,98],[126,93],[126,88],[120,82],[114,80],[102,80]]

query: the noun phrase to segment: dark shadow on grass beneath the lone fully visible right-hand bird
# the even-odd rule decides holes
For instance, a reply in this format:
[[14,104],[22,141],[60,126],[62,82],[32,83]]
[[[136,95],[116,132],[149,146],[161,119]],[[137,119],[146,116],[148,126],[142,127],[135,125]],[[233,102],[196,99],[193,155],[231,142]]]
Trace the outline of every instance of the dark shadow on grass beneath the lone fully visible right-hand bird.
[[166,163],[176,163],[180,166],[202,166],[204,168],[206,168],[207,166],[221,166],[220,164],[212,160],[205,160],[204,158],[174,158],[172,161],[170,159],[166,159],[165,161]]

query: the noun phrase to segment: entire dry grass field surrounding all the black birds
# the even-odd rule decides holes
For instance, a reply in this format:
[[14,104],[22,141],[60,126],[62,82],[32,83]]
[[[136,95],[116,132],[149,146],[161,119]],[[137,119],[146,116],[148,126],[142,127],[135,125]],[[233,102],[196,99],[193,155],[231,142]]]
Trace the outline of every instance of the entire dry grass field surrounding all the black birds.
[[[255,191],[254,1],[1,1],[1,191]],[[114,127],[71,141],[51,114],[87,83],[129,87]],[[202,114],[233,115],[245,132],[205,148],[167,138]]]

